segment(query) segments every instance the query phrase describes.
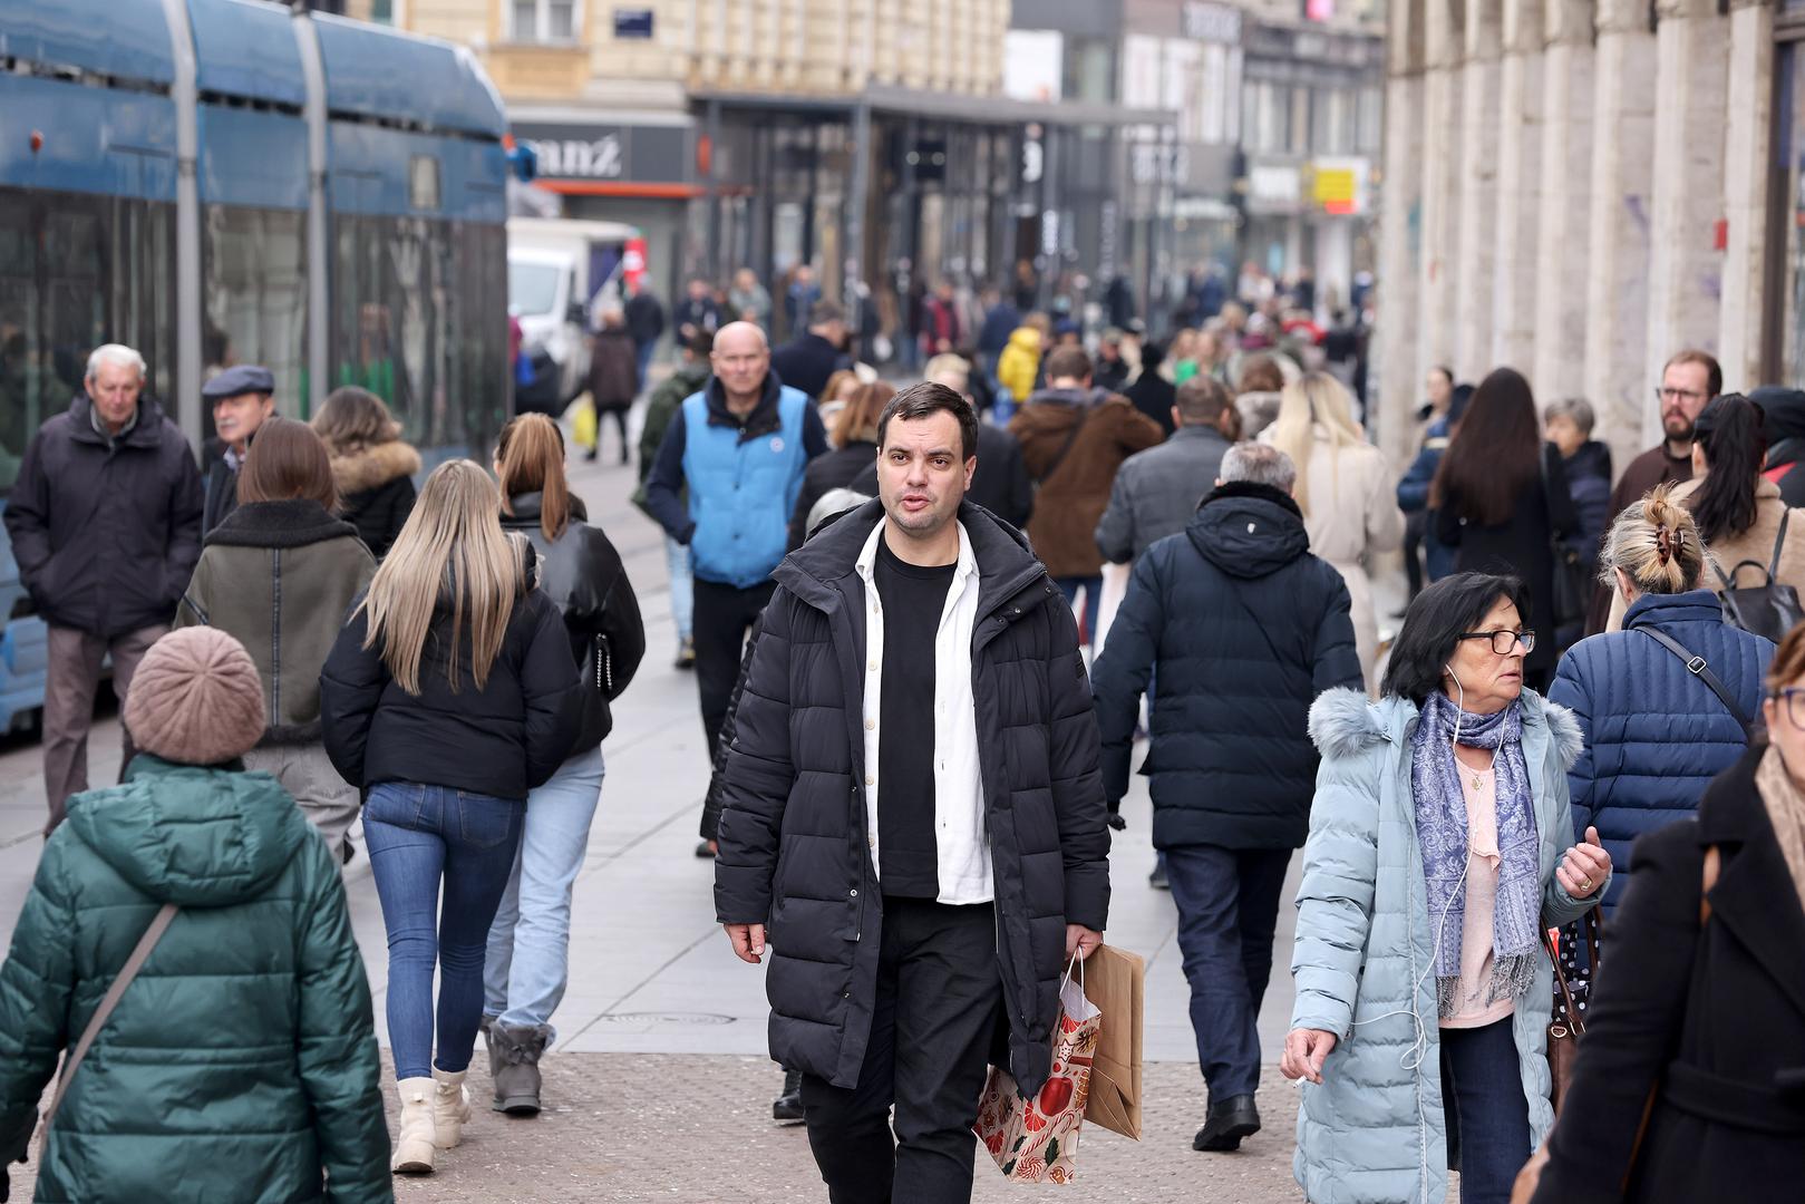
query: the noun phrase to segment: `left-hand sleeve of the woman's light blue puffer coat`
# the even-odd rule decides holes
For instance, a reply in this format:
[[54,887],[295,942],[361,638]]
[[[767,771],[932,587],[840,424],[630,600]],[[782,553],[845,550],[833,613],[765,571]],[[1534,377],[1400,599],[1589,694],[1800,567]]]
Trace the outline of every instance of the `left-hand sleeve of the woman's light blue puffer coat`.
[[1291,977],[1292,1029],[1347,1040],[1372,928],[1379,875],[1379,762],[1375,749],[1325,756],[1316,771],[1310,836],[1298,884],[1298,940]]

